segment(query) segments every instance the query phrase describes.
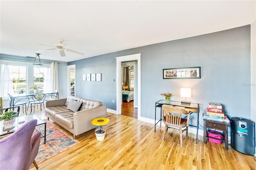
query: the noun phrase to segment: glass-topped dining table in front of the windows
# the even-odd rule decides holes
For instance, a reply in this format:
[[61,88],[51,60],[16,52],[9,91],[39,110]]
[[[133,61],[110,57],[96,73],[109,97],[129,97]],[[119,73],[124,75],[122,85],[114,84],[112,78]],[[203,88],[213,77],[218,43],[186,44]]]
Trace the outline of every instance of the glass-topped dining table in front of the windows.
[[[57,98],[59,98],[59,92],[43,92],[46,96],[50,96],[52,98],[52,96],[56,96]],[[26,93],[21,93],[21,94],[13,94],[10,95],[11,99],[10,99],[10,107],[14,106],[17,102],[19,102],[20,100],[24,100],[24,99],[29,99],[32,96],[34,96],[35,94],[26,94]]]

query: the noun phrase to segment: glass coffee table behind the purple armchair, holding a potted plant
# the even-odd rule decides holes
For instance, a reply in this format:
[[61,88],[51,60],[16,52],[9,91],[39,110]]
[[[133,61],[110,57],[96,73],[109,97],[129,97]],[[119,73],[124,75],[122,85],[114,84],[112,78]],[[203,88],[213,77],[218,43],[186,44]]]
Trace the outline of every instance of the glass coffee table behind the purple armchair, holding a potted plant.
[[[46,143],[46,121],[40,119],[38,116],[36,116],[34,114],[15,117],[15,123],[13,123],[11,125],[7,125],[7,126],[4,126],[4,121],[1,120],[0,121],[0,136],[14,133],[17,129],[22,127],[22,125],[24,125],[26,122],[28,122],[32,119],[37,120],[36,126],[44,124],[44,134],[42,133],[42,137],[44,137],[44,144],[45,144]],[[36,128],[36,130],[39,131],[37,128]]]

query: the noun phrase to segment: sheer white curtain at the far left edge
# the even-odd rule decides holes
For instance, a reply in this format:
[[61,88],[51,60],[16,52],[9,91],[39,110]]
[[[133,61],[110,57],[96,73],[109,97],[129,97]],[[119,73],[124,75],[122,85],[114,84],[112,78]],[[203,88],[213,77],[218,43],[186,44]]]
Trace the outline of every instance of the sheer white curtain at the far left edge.
[[9,100],[7,93],[13,94],[12,75],[10,69],[9,65],[1,64],[0,96],[3,100]]

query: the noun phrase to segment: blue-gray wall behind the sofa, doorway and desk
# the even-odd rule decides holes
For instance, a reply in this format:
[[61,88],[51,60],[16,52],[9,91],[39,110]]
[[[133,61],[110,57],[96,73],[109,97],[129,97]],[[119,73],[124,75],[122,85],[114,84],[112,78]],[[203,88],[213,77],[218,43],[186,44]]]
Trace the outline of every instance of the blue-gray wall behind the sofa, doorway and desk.
[[[154,104],[164,99],[160,93],[174,93],[172,100],[180,101],[180,88],[188,87],[189,100],[200,104],[200,113],[216,102],[228,117],[250,119],[250,25],[70,62],[76,64],[76,96],[100,100],[116,110],[115,57],[136,53],[141,53],[142,117],[154,119]],[[194,66],[201,67],[200,79],[162,78],[164,68]],[[86,73],[102,73],[102,82],[82,81]]]

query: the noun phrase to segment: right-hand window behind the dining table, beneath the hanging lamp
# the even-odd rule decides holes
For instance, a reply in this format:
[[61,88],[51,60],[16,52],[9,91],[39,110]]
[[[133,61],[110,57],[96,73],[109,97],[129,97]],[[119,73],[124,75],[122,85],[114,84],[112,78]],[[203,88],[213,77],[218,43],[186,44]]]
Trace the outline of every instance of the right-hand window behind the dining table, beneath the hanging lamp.
[[47,69],[46,67],[34,67],[34,85],[38,87],[40,92],[44,92],[44,80]]

